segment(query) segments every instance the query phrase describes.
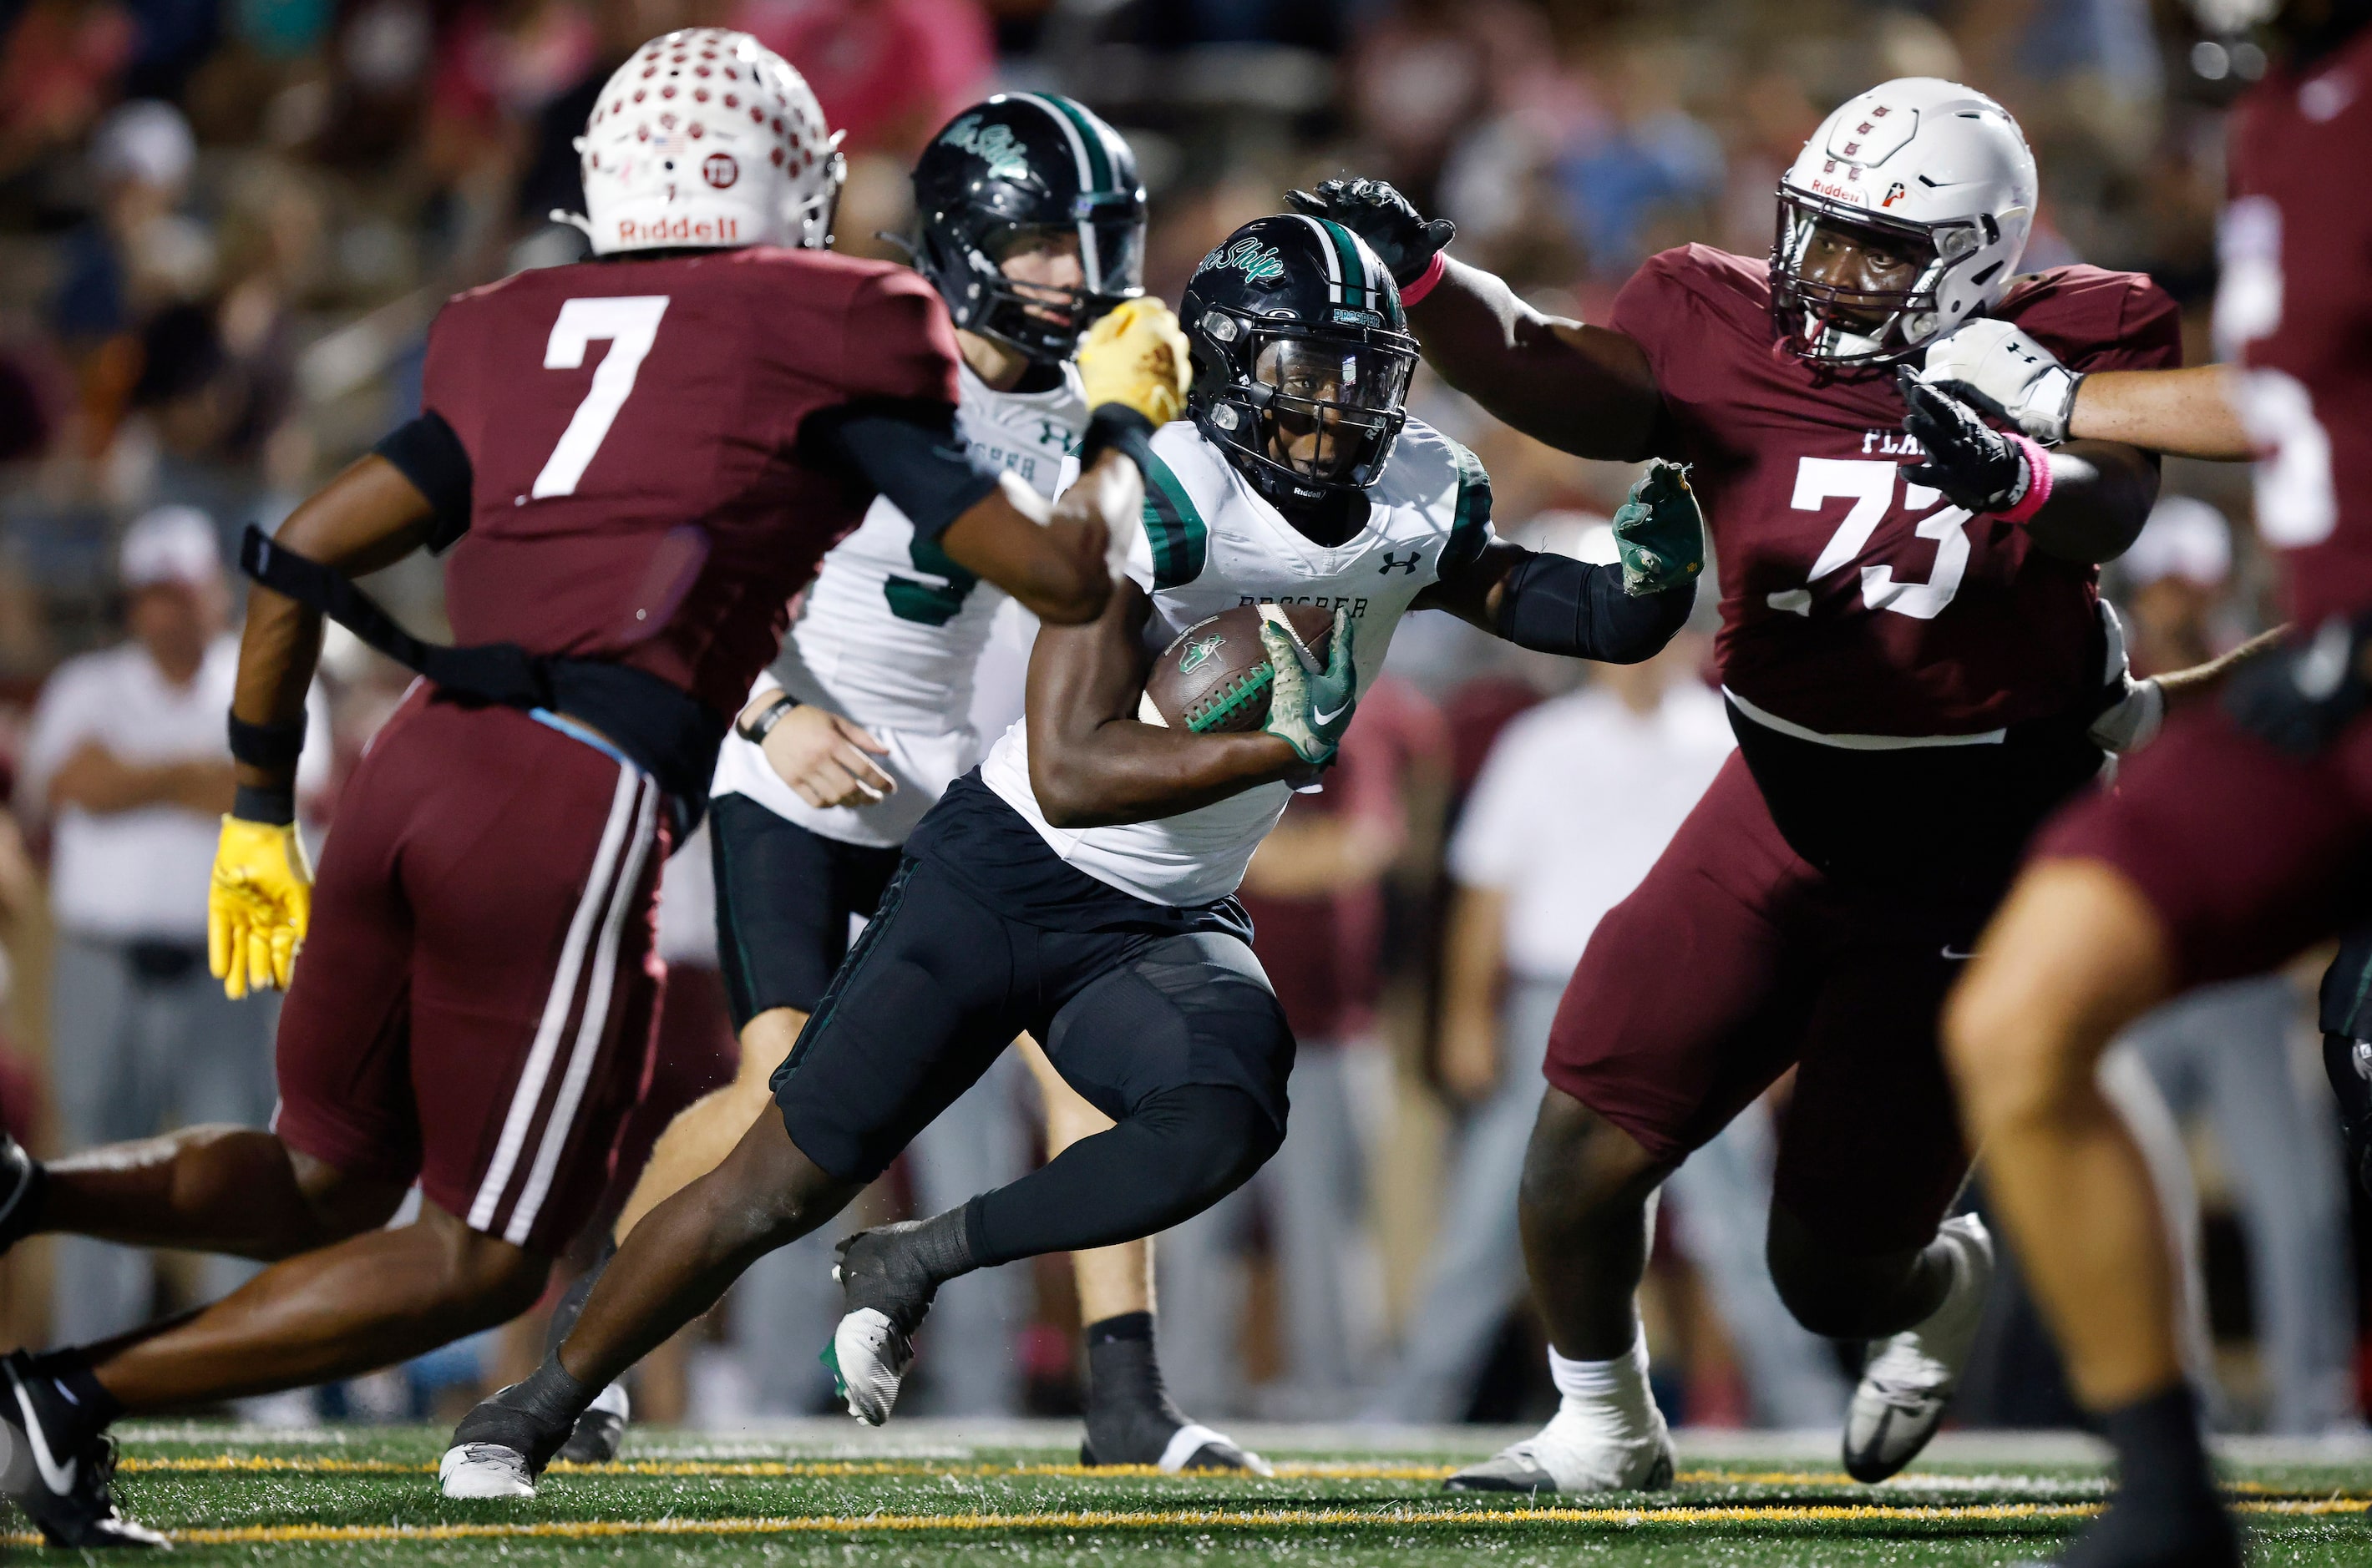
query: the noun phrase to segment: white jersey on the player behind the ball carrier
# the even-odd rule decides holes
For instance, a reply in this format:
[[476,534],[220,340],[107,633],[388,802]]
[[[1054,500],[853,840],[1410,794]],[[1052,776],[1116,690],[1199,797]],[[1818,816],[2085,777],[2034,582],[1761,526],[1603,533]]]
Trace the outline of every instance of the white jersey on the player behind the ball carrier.
[[[973,455],[1048,501],[1063,493],[1079,472],[1075,453],[1086,432],[1079,372],[1065,363],[1060,387],[996,391],[961,365],[961,384],[956,427]],[[844,844],[906,842],[946,785],[980,761],[973,671],[1006,603],[1003,588],[916,538],[906,515],[875,496],[856,531],[825,553],[771,674],[799,702],[844,714],[890,742],[875,766],[897,792],[873,807],[818,811],[740,735],[726,735],[712,792],[747,795]],[[771,678],[761,676],[764,686]]]

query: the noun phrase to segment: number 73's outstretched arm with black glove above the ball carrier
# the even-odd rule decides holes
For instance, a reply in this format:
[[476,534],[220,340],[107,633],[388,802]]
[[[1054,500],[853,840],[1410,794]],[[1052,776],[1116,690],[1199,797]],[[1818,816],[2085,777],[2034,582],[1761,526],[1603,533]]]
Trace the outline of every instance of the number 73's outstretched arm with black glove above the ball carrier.
[[1646,351],[1622,332],[1542,315],[1492,273],[1442,254],[1456,232],[1383,180],[1286,192],[1295,209],[1357,230],[1392,268],[1426,363],[1501,422],[1558,451],[1646,455],[1660,399]]

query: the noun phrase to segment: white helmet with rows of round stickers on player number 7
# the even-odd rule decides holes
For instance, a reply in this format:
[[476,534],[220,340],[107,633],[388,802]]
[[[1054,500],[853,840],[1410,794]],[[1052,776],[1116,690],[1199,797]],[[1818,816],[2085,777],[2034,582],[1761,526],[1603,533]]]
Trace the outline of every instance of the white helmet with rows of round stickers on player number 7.
[[833,240],[847,159],[806,81],[750,33],[695,26],[621,64],[586,133],[586,216],[553,213],[595,256]]

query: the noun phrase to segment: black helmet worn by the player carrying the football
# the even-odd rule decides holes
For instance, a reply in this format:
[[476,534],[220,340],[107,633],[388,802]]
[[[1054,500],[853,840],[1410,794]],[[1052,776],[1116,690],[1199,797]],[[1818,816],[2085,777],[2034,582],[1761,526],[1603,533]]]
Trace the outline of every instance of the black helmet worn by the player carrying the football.
[[1255,218],[1203,256],[1179,323],[1193,344],[1186,410],[1262,496],[1307,505],[1383,477],[1409,422],[1416,339],[1359,235]]

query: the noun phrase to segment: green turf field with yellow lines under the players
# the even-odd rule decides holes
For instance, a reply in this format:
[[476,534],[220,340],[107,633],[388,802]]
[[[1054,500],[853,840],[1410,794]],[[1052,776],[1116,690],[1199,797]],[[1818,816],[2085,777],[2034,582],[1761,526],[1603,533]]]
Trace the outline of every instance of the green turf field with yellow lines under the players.
[[[854,1428],[849,1428],[854,1430]],[[897,1433],[897,1426],[887,1435]],[[2016,1563],[2099,1504],[2097,1466],[1950,1457],[1886,1487],[1819,1464],[1715,1459],[1589,1506],[1452,1497],[1435,1452],[1271,1449],[1274,1480],[1089,1473],[1051,1447],[726,1442],[640,1430],[629,1461],[555,1471],[529,1504],[436,1497],[441,1430],[128,1428],[119,1487],[185,1563]],[[2040,1449],[2052,1452],[2052,1449]],[[2372,1464],[2230,1468],[2253,1563],[2372,1563]],[[14,1521],[12,1549],[28,1547]],[[31,1554],[69,1561],[66,1554]],[[19,1559],[24,1561],[24,1559]]]

